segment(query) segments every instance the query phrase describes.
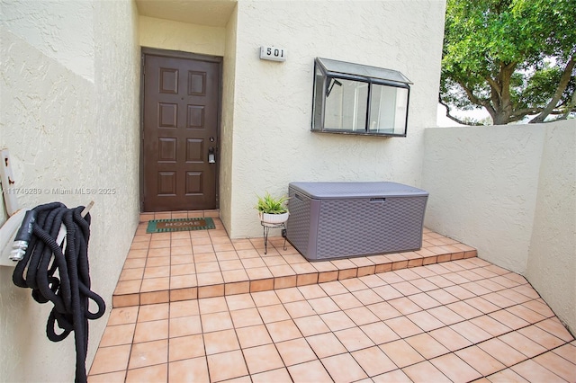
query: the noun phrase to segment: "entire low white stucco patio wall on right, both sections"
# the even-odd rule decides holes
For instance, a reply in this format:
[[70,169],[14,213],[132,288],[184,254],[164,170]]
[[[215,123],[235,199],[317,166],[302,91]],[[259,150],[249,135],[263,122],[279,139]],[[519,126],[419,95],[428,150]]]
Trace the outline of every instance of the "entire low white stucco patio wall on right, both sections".
[[576,328],[576,121],[426,129],[425,225],[527,277]]

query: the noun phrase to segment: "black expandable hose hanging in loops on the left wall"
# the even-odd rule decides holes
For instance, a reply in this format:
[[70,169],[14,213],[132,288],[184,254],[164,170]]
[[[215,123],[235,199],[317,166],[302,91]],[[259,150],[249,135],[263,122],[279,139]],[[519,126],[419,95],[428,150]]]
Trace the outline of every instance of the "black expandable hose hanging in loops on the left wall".
[[[32,209],[36,218],[35,221],[24,219],[28,223],[26,229],[20,230],[19,236],[22,234],[20,240],[27,241],[28,245],[13,274],[14,284],[31,288],[31,295],[37,302],[50,301],[54,305],[46,326],[50,341],[62,341],[74,331],[76,382],[86,381],[88,319],[103,316],[106,307],[103,298],[90,289],[90,214],[86,209],[89,207],[67,209],[60,202]],[[63,233],[58,236],[62,225],[66,227],[65,237]],[[98,307],[97,312],[90,312],[89,299]]]

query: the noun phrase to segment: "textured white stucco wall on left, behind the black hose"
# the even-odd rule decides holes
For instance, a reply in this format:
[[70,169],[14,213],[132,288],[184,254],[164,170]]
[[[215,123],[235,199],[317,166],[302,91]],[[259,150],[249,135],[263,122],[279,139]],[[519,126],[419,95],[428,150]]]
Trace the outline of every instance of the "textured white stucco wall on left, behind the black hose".
[[[95,202],[91,280],[108,307],[105,316],[89,324],[89,368],[139,218],[138,15],[130,0],[10,1],[2,6],[0,147],[10,150],[20,186],[42,191],[18,195],[18,200],[27,209],[55,200],[68,207]],[[45,6],[50,12],[38,12]],[[80,13],[78,27],[69,19]],[[5,20],[8,14],[19,17]],[[80,61],[56,54],[67,39],[72,45],[85,42],[85,49],[74,48]],[[47,47],[58,49],[46,52]],[[76,188],[115,192],[87,196],[76,194]],[[61,343],[49,342],[45,326],[51,306],[36,303],[30,289],[15,287],[13,270],[0,267],[1,379],[72,381],[74,334]]]

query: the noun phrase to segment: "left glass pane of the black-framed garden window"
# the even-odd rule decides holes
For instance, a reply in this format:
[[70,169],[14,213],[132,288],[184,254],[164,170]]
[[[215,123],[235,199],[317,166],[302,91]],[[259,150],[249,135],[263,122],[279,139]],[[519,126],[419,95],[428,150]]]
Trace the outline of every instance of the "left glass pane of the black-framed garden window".
[[329,78],[324,129],[365,132],[368,84]]

